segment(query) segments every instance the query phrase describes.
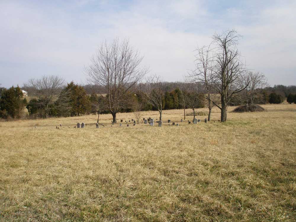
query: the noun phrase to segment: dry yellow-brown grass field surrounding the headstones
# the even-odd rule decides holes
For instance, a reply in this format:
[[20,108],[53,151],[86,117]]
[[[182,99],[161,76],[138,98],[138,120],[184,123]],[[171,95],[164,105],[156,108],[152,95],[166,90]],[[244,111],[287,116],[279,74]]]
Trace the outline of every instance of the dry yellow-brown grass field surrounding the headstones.
[[0,221],[296,221],[296,105],[263,107],[197,125],[169,110],[163,127],[1,122]]

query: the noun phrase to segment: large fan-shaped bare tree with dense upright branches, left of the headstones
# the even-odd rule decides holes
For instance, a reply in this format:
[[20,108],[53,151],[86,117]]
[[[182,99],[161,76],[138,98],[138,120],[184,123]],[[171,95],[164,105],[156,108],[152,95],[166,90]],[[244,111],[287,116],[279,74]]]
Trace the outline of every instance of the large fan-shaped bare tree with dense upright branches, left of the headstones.
[[88,81],[105,88],[107,95],[101,94],[105,99],[100,106],[111,112],[113,123],[116,113],[125,107],[128,91],[148,73],[147,67],[140,66],[142,60],[128,40],[116,38],[111,44],[105,41],[85,68]]

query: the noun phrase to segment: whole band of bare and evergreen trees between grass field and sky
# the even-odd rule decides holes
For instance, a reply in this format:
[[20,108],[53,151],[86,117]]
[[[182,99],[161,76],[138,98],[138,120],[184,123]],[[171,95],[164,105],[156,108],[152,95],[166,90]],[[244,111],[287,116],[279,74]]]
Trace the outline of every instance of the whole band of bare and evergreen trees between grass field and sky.
[[0,115],[19,118],[20,107],[26,106],[34,117],[97,113],[99,121],[100,113],[111,113],[112,122],[116,123],[118,112],[157,110],[162,120],[164,109],[184,109],[185,119],[186,108],[192,109],[195,118],[195,109],[206,106],[210,120],[216,106],[224,122],[231,105],[282,102],[281,94],[268,94],[272,89],[266,77],[248,70],[242,62],[237,49],[241,37],[235,30],[214,34],[210,45],[196,49],[196,68],[184,76],[183,82],[170,84],[160,75],[147,76],[150,70],[142,65],[143,56],[128,40],[105,41],[85,67],[88,85],[82,87],[72,81],[65,86],[59,76],[30,79],[24,88],[34,99],[27,104],[18,94],[19,87],[4,89]]

